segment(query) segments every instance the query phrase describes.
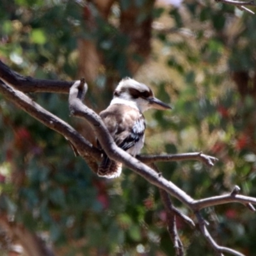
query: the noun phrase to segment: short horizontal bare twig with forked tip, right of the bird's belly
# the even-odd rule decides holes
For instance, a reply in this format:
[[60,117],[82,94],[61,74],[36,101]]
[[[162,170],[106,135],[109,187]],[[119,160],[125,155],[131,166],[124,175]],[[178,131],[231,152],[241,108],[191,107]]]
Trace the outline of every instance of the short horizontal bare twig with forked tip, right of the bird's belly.
[[184,154],[171,154],[171,155],[161,155],[161,156],[136,156],[143,163],[156,163],[156,162],[168,162],[168,161],[187,161],[196,160],[206,164],[209,167],[214,166],[214,163],[218,161],[218,158],[207,156],[202,154],[202,152],[195,153],[184,153]]

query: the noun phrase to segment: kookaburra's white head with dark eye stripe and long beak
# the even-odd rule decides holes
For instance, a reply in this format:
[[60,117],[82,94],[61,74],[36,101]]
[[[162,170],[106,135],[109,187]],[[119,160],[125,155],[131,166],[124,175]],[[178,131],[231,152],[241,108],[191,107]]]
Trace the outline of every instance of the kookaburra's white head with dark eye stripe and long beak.
[[141,112],[147,109],[172,109],[170,106],[154,97],[152,90],[143,83],[139,83],[131,78],[120,81],[114,92],[114,99],[125,100],[136,104]]

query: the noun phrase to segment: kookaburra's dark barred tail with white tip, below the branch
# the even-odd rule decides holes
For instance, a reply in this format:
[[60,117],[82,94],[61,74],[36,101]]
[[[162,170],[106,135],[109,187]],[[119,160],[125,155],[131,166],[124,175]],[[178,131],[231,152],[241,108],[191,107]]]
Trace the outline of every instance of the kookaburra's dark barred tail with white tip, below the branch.
[[109,159],[109,157],[106,156],[106,154],[104,154],[98,168],[98,175],[100,177],[113,179],[113,178],[119,177],[121,172],[122,172],[122,163],[115,162]]

